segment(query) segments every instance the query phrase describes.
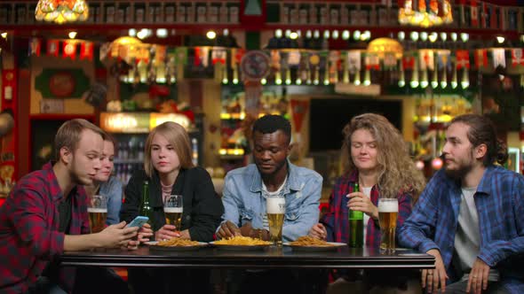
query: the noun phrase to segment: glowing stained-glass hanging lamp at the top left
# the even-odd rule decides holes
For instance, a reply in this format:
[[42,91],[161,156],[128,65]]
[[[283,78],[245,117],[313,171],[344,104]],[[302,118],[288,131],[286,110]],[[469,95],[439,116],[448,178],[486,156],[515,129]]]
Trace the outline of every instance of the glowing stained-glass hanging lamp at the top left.
[[39,0],[35,19],[63,24],[85,21],[89,17],[89,6],[84,0]]

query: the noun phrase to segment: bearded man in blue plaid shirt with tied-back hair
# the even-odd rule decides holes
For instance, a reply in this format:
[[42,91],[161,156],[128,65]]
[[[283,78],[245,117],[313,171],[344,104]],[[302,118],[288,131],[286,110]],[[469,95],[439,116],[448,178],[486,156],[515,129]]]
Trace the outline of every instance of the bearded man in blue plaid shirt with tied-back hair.
[[399,244],[435,257],[427,292],[524,293],[524,177],[494,162],[507,152],[485,117],[451,121],[433,175],[405,221]]

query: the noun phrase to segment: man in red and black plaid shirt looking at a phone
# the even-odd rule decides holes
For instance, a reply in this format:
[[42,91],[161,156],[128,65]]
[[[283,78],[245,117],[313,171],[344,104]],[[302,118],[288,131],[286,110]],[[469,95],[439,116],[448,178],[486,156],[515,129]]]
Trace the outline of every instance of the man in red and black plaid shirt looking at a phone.
[[100,168],[103,131],[68,120],[55,137],[57,161],[20,179],[0,208],[0,292],[69,292],[75,269],[59,267],[63,251],[123,247],[138,228],[125,222],[89,234],[88,198]]

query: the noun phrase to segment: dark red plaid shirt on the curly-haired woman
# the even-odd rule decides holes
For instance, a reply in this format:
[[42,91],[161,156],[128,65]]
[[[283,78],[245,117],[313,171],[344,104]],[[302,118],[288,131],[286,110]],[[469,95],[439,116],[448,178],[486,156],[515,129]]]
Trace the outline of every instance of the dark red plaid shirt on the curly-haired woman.
[[[337,179],[331,196],[329,197],[329,212],[324,214],[322,217],[322,224],[328,230],[328,241],[329,242],[340,242],[347,244],[349,240],[349,228],[348,228],[348,208],[347,201],[349,200],[345,197],[347,194],[353,192],[353,185],[358,181],[359,175],[358,172],[353,172],[352,174],[345,174]],[[378,205],[379,192],[377,185],[371,188],[370,199],[373,205]],[[411,195],[409,193],[399,193],[397,195],[399,198],[399,217],[397,219],[397,234],[399,232],[398,228],[401,228],[401,225],[408,218],[411,213]],[[367,247],[376,247],[380,246],[380,227],[378,226],[378,221],[373,221],[372,218],[369,218],[368,224],[366,225],[366,240],[365,244]]]

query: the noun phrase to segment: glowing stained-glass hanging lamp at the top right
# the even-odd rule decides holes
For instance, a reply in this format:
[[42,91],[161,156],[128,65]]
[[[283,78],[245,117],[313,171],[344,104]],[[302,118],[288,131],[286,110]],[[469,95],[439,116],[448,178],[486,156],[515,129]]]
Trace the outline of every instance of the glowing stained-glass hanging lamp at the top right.
[[434,27],[453,22],[449,0],[405,0],[399,9],[401,25]]

